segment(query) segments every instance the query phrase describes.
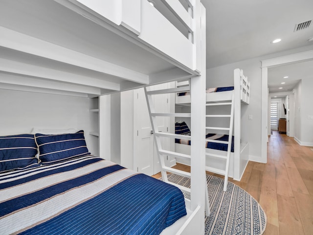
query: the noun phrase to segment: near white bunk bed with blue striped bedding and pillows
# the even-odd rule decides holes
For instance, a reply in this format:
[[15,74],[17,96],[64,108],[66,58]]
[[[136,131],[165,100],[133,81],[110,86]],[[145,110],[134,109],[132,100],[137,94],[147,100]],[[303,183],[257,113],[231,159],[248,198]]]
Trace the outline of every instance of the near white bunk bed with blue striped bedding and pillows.
[[[1,144],[9,146],[3,145],[0,155],[0,203],[4,205],[1,205],[1,234],[27,234],[35,230],[40,233],[51,229],[59,229],[55,231],[57,233],[72,234],[84,225],[84,229],[87,229],[83,232],[85,234],[91,231],[110,234],[104,231],[103,226],[106,225],[101,223],[108,216],[114,218],[113,227],[120,229],[117,233],[123,233],[123,228],[127,227],[125,231],[131,231],[132,234],[150,234],[152,230],[162,235],[203,234],[205,176],[204,152],[200,145],[192,147],[192,155],[199,158],[191,162],[191,200],[181,201],[181,192],[176,187],[110,162],[112,156],[110,145],[107,145],[110,143],[107,135],[110,122],[105,122],[106,115],[110,115],[113,108],[110,106],[112,93],[186,78],[191,78],[193,89],[203,87],[205,43],[201,44],[201,40],[205,42],[205,9],[200,0],[0,0],[0,4],[0,89],[86,99],[99,97],[99,107],[92,109],[92,112],[98,112],[100,117],[98,133],[93,136],[98,138],[101,156],[98,158],[88,153],[86,143],[81,142],[83,136],[71,136],[82,135],[82,131],[57,135],[20,134],[16,130],[10,133],[10,126],[4,126],[1,131],[10,135],[1,135],[2,140],[6,140],[1,141]],[[203,95],[194,95],[192,103],[204,104],[204,92]],[[202,133],[201,123],[204,123],[204,118],[199,112],[204,112],[204,109],[204,106],[197,106],[191,115],[195,142],[200,140]],[[41,142],[41,139],[45,139],[43,137],[49,139],[49,142]],[[27,141],[22,141],[20,146],[17,145],[19,141],[7,142],[11,138]],[[76,142],[72,138],[78,138],[79,144],[83,145],[70,149],[81,149],[81,152],[55,155],[65,150],[60,149],[60,146],[45,152],[48,143]],[[24,152],[20,151],[25,150],[25,147],[26,159],[22,157]],[[14,157],[6,152],[6,148],[14,150]],[[35,157],[37,148],[39,158]],[[52,159],[46,157],[50,154]],[[11,162],[12,158],[17,161],[16,164],[7,166],[6,163]],[[102,173],[96,174],[98,171]],[[92,174],[88,179],[84,177],[86,172]],[[78,178],[74,178],[74,175]],[[45,177],[51,181],[45,181]],[[107,182],[105,179],[110,177],[112,179]],[[95,188],[89,188],[95,178],[99,179],[96,180],[98,183],[94,183]],[[67,181],[70,181],[71,186],[65,186],[66,189],[57,187],[59,184],[66,185]],[[156,219],[161,223],[148,219],[152,210],[148,204],[152,203],[152,207],[157,208],[164,203],[151,197],[146,197],[146,210],[142,209],[141,201],[136,197],[125,199],[126,205],[129,205],[127,211],[120,207],[118,209],[125,203],[119,203],[114,197],[118,198],[118,193],[126,189],[130,194],[145,194],[145,190],[139,187],[142,181],[159,188],[156,193],[162,194],[160,188],[171,191],[167,194],[170,201],[170,195],[176,193],[178,204],[185,204],[183,209],[179,209],[179,216],[166,218],[167,212],[161,210],[156,212],[164,215]],[[149,191],[149,188],[152,187],[146,190]],[[47,191],[54,194],[46,194]],[[71,193],[81,196],[72,197]],[[107,201],[107,197],[112,200]],[[19,200],[21,198],[24,200]],[[101,201],[103,204],[108,203],[105,206],[109,209],[101,207]],[[55,207],[59,203],[61,207]],[[165,211],[171,207],[167,205],[163,208]],[[138,206],[141,208],[137,214],[143,214],[136,219],[141,220],[141,224],[130,219]],[[174,205],[174,209],[177,206]],[[111,214],[115,210],[120,212]],[[102,217],[106,213],[109,214]],[[125,221],[129,223],[125,224]],[[83,223],[78,226],[80,222]],[[111,229],[108,231],[114,231],[114,228]]]

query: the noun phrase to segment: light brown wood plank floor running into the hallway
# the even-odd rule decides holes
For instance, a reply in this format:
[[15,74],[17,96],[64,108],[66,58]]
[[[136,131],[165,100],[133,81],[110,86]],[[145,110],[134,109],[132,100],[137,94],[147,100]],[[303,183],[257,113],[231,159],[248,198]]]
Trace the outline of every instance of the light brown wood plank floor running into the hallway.
[[[267,215],[264,235],[313,235],[312,149],[273,131],[268,142],[268,163],[249,162],[240,182],[229,179],[262,206]],[[190,171],[182,164],[175,168]]]

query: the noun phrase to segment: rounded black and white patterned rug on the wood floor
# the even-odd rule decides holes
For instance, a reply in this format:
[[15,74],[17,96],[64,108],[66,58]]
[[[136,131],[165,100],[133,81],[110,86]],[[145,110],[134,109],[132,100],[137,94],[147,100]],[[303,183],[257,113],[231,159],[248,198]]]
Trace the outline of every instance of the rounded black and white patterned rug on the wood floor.
[[[175,174],[169,181],[190,188],[190,179]],[[205,235],[262,235],[266,215],[260,204],[244,189],[229,182],[223,191],[224,179],[206,175],[210,216],[205,217]],[[190,195],[185,195],[190,198]]]

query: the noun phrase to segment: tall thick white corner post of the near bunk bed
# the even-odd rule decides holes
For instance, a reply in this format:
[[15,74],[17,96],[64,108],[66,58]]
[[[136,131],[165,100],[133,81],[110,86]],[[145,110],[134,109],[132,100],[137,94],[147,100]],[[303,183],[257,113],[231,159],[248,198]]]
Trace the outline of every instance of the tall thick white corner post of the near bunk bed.
[[[201,4],[197,4],[199,7]],[[199,12],[200,13],[200,12]],[[199,228],[204,234],[204,208],[205,208],[205,9],[201,7],[201,75],[191,79],[191,210],[200,206]],[[195,13],[197,15],[197,13]],[[199,14],[200,15],[200,14]]]

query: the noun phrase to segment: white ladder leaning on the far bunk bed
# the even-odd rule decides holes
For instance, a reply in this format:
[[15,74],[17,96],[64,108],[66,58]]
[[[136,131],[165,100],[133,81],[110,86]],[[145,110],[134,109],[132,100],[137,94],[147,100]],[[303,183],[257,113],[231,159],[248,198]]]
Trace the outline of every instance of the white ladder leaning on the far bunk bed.
[[[228,170],[229,170],[229,159],[230,159],[230,152],[231,152],[231,141],[232,141],[232,134],[233,134],[233,124],[234,124],[234,91],[231,92],[231,99],[226,98],[224,100],[220,100],[223,102],[209,102],[207,101],[206,106],[230,106],[230,114],[227,115],[206,115],[206,118],[229,118],[229,127],[213,127],[213,126],[206,126],[206,130],[223,130],[228,131],[228,141],[217,141],[217,140],[208,140],[207,142],[215,142],[215,143],[226,143],[227,144],[227,154],[213,154],[213,153],[206,153],[206,156],[211,156],[214,158],[225,159],[225,169],[215,168],[211,166],[205,166],[205,169],[210,172],[218,173],[224,175],[224,191],[227,190],[228,184]],[[227,101],[227,102],[225,102]]]

